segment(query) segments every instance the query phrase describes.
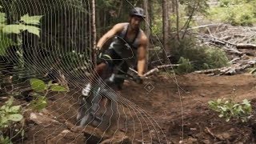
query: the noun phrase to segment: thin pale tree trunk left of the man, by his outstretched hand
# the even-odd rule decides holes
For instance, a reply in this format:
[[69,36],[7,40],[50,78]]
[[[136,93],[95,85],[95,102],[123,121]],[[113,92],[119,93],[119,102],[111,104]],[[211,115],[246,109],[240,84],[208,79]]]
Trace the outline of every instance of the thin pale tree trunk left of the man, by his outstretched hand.
[[93,31],[93,47],[92,47],[92,51],[93,51],[93,64],[94,66],[96,66],[96,53],[95,53],[95,48],[96,48],[96,24],[95,24],[95,0],[92,0],[92,31]]

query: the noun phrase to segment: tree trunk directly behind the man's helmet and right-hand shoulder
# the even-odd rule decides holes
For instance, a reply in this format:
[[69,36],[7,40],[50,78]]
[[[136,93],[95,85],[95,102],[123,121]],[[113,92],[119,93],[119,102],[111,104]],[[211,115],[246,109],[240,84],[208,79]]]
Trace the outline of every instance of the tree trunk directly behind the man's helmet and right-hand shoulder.
[[[145,22],[145,26],[146,26],[146,37],[150,39],[150,18],[149,18],[149,13],[148,13],[148,0],[143,0],[143,7],[145,10],[145,15],[146,15],[146,22]],[[146,67],[145,67],[145,71],[147,71],[148,68],[148,61],[149,61],[149,47],[147,47],[146,49]]]

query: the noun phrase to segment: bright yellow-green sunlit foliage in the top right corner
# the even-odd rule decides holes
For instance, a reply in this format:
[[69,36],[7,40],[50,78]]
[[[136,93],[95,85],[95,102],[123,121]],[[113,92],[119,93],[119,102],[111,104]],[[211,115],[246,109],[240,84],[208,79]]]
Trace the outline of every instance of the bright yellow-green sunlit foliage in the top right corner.
[[255,6],[255,1],[221,0],[218,7],[209,11],[209,18],[228,22],[234,26],[252,26],[256,22]]

